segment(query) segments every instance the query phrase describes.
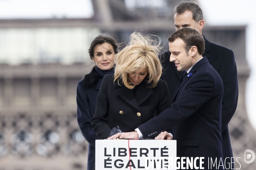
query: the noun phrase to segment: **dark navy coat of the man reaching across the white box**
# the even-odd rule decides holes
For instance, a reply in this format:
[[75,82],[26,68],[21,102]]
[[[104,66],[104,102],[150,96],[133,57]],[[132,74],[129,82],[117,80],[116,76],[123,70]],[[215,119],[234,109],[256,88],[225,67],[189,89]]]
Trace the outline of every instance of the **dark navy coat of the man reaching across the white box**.
[[218,158],[217,162],[222,158],[223,84],[206,57],[198,61],[189,73],[192,73],[190,77],[180,80],[171,108],[138,128],[143,136],[148,136],[175,126],[173,136],[177,140],[177,156],[204,157],[207,169],[208,157]]

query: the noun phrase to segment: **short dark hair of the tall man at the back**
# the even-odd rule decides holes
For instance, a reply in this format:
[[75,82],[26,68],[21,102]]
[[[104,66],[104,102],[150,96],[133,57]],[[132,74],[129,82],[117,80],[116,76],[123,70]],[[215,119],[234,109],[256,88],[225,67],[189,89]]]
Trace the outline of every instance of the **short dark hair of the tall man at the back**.
[[[195,22],[199,22],[200,20],[204,20],[204,15],[202,9],[193,1],[182,2],[175,7],[174,15],[183,14],[185,11],[191,11],[193,15],[193,20]],[[174,16],[173,15],[173,16]]]

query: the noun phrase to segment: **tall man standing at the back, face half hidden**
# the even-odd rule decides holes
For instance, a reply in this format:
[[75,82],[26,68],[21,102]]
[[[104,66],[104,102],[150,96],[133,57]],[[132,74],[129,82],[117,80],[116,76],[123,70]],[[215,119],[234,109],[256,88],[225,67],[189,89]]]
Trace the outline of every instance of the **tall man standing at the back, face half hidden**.
[[[176,6],[174,12],[174,20],[176,30],[189,27],[197,30],[200,34],[202,34],[202,29],[204,27],[203,12],[196,3],[192,1],[182,2]],[[221,108],[222,151],[224,160],[227,158],[226,167],[227,169],[231,169],[230,165],[227,164],[231,162],[231,157],[233,157],[228,123],[236,111],[238,101],[238,76],[235,57],[232,50],[209,42],[205,37],[204,42],[205,50],[202,56],[207,57],[209,63],[221,76],[224,86]],[[167,82],[169,94],[172,98],[176,86],[180,81],[183,73],[177,71],[174,62],[169,62],[169,51],[163,53],[161,58],[163,58],[162,64],[164,71],[162,79]],[[234,164],[232,165],[232,168],[234,168]]]

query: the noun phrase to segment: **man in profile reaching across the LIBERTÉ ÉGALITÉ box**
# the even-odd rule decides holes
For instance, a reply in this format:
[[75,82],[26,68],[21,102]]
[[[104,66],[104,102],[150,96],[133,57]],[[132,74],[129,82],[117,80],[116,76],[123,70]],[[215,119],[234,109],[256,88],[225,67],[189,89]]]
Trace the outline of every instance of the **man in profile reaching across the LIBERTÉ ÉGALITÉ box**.
[[[185,71],[175,90],[171,108],[140,125],[135,132],[122,133],[120,137],[138,138],[142,135],[147,138],[177,125],[173,133],[177,140],[177,156],[204,157],[203,166],[207,169],[208,158],[217,158],[217,162],[222,158],[221,77],[207,58],[202,57],[204,38],[198,31],[182,28],[170,35],[168,41],[170,61],[175,63],[177,71],[183,74]],[[212,168],[223,169],[222,166]]]

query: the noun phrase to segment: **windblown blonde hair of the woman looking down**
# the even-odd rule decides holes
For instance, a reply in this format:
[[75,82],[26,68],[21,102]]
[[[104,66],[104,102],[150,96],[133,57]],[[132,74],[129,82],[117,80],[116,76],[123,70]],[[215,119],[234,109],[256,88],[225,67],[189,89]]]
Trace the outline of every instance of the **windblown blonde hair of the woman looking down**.
[[137,32],[131,34],[128,45],[115,55],[114,82],[133,89],[135,85],[131,83],[128,74],[148,68],[145,79],[147,83],[152,82],[151,88],[154,88],[162,74],[162,65],[158,59],[161,48],[160,38],[156,35],[143,36]]

